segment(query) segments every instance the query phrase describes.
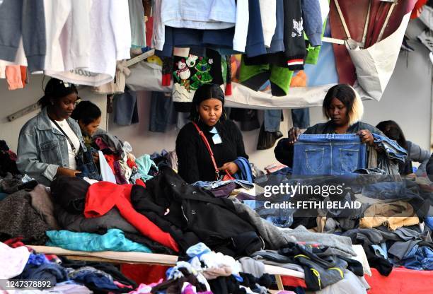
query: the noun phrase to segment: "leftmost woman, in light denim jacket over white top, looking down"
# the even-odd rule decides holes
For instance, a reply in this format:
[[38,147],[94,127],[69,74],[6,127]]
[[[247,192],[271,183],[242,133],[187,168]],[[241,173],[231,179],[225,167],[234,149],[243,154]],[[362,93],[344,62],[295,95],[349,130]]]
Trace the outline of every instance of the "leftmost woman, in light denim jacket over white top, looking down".
[[75,177],[79,173],[75,157],[86,146],[79,124],[70,118],[77,94],[73,84],[51,78],[38,101],[42,111],[20,131],[18,170],[41,184],[49,185],[57,175]]

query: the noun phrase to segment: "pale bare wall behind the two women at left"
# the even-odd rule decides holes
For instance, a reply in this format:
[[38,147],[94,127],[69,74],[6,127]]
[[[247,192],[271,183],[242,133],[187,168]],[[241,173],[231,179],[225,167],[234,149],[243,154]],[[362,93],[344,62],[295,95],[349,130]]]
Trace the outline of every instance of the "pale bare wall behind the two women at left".
[[[46,77],[45,83],[47,83],[48,80],[49,77]],[[39,110],[26,114],[13,122],[8,121],[8,115],[32,105],[37,102],[42,95],[42,75],[30,76],[30,83],[25,86],[24,89],[13,91],[8,90],[6,80],[0,79],[0,139],[5,140],[11,150],[16,151],[18,145],[18,134],[20,133],[23,124],[25,124],[28,119],[34,117]],[[79,95],[84,98],[84,100],[91,100],[96,103],[96,105],[103,110],[101,126],[105,129],[105,95],[96,95],[89,93],[87,90],[79,91]]]

